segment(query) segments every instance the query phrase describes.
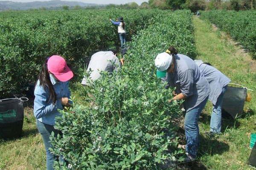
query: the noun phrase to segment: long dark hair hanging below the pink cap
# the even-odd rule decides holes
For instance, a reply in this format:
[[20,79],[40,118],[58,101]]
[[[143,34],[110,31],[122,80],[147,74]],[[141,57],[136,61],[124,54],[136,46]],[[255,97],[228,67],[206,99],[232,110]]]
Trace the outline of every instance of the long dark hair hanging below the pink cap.
[[43,88],[46,90],[49,90],[49,99],[47,102],[52,101],[53,104],[56,103],[57,101],[57,97],[56,97],[56,93],[54,91],[51,79],[50,79],[50,75],[48,72],[48,68],[47,68],[47,62],[48,62],[49,57],[45,60],[43,66],[42,66],[42,70],[38,76],[38,80],[40,81],[40,85],[43,86]]

